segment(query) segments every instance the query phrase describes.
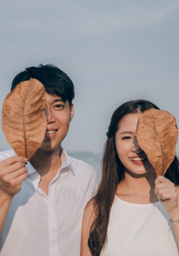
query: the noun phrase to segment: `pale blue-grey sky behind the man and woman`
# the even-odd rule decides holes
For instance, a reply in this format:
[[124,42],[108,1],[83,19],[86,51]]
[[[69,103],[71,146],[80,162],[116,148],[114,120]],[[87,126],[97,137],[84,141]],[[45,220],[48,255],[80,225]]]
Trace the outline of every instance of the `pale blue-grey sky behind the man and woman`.
[[6,0],[0,24],[0,112],[18,72],[50,63],[76,87],[69,151],[100,152],[126,100],[151,100],[179,126],[179,0]]

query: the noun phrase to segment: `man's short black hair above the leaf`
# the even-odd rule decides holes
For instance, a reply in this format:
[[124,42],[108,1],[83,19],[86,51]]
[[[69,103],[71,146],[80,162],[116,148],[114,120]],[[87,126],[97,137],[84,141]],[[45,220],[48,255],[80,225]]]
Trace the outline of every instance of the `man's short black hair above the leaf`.
[[48,94],[59,96],[64,102],[67,100],[69,104],[75,97],[75,88],[70,77],[61,69],[52,64],[27,67],[24,71],[17,74],[13,81],[11,90],[22,81],[27,81],[30,78],[36,78],[45,87]]

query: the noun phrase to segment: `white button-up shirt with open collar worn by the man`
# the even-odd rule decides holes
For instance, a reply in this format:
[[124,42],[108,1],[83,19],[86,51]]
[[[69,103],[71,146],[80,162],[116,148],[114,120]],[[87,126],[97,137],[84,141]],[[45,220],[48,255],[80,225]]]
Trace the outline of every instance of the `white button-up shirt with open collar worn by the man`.
[[[61,148],[62,166],[48,196],[28,162],[29,176],[14,195],[0,236],[0,256],[80,256],[84,208],[97,188],[95,170]],[[0,152],[0,161],[15,155]]]

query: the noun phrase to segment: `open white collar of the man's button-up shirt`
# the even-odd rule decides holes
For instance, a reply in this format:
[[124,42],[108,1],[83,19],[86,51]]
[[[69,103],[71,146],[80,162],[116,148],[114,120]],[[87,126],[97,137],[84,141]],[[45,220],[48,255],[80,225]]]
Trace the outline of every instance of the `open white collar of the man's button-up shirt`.
[[[72,164],[67,152],[64,150],[64,148],[62,146],[60,148],[60,157],[62,160],[62,165],[59,170],[61,171],[64,168],[68,169],[75,176],[75,170],[74,170],[73,164]],[[29,161],[27,162],[27,168],[28,168],[29,175],[32,173],[36,173],[35,169],[33,168],[33,166],[31,165],[31,163]]]

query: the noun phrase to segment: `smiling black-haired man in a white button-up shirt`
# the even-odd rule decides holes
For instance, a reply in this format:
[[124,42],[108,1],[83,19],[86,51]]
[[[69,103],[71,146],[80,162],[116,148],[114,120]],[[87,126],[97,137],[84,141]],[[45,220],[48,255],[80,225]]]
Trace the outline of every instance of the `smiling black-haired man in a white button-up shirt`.
[[97,179],[61,146],[74,116],[74,85],[48,64],[17,74],[11,89],[30,77],[46,90],[47,130],[30,162],[0,152],[0,256],[79,256],[83,212]]

